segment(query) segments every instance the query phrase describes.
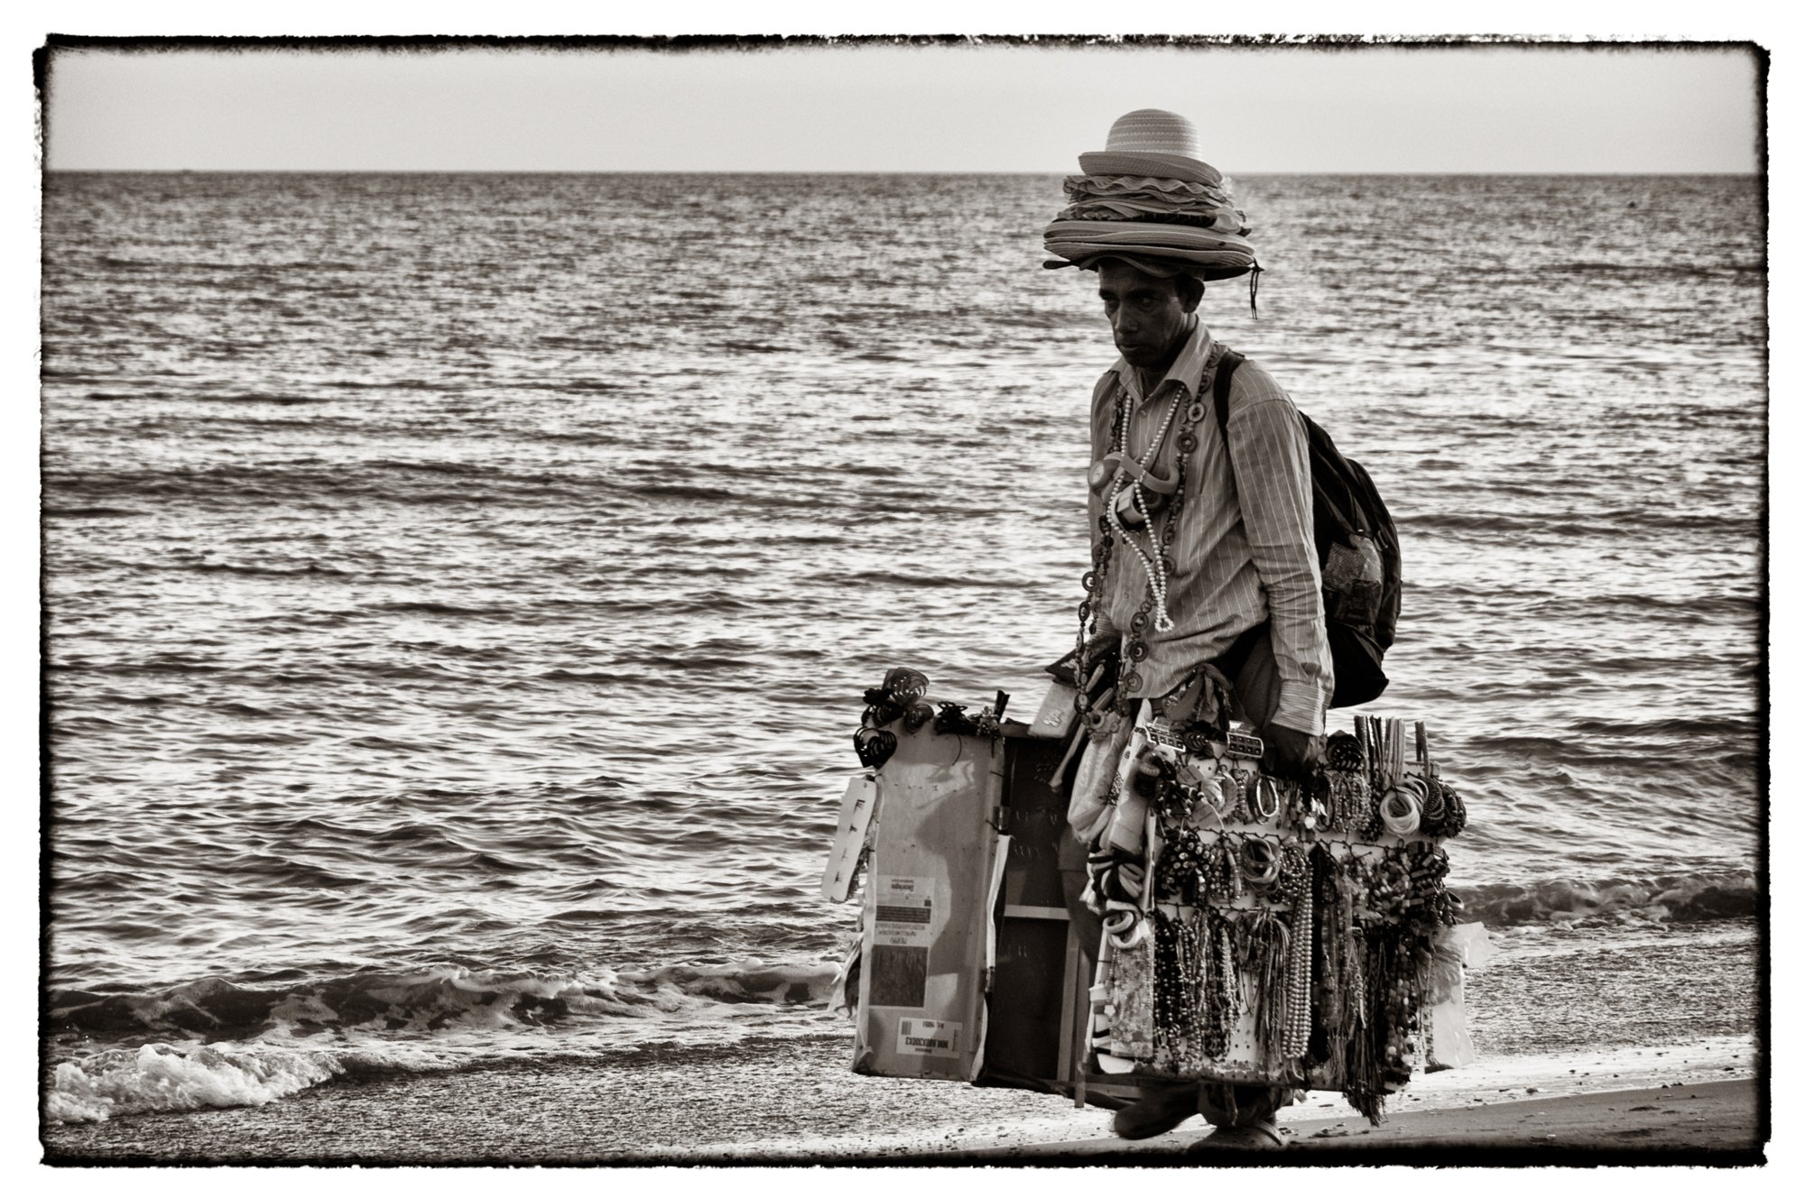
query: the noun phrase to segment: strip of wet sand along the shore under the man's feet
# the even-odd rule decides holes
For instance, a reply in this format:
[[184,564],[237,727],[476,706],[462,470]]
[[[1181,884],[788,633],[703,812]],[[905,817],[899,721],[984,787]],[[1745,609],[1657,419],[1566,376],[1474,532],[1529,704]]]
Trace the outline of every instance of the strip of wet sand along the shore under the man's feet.
[[[1753,1164],[1765,1140],[1751,1077],[1540,1099],[1513,1088],[1439,1108],[1422,1090],[1381,1128],[1310,1095],[1282,1115],[1287,1149],[1249,1160]],[[1197,1164],[1182,1151],[1208,1131],[1193,1120],[1130,1144],[1108,1119],[1051,1093],[856,1077],[827,1039],[343,1079],[256,1108],[52,1124],[43,1144],[52,1164],[1159,1166]]]

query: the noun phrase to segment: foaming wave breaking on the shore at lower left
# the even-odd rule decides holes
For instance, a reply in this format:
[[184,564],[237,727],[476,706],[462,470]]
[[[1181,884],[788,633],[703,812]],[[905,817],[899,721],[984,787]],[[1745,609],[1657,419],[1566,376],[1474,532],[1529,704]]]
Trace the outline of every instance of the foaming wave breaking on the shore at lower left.
[[[51,1068],[43,1113],[101,1122],[262,1106],[343,1077],[464,1070],[523,1048],[641,1054],[679,1046],[684,1028],[726,1027],[747,1005],[825,1010],[832,981],[825,963],[740,963],[585,978],[435,969],[267,989],[204,978],[137,994],[61,991],[51,994],[47,1030],[65,1052],[69,1043],[79,1052]],[[585,1028],[599,1039],[585,1045]]]

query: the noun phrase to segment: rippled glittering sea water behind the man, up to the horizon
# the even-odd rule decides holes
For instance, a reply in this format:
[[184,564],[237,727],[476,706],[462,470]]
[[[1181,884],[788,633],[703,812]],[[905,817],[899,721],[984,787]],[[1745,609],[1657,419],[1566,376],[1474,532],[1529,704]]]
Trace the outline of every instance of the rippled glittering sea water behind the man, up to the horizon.
[[[1240,197],[1258,318],[1202,312],[1397,518],[1366,711],[1469,810],[1480,1054],[1749,1037],[1760,180]],[[1025,718],[1076,633],[1114,350],[1041,269],[1060,202],[47,175],[47,1113],[848,1037],[818,880],[861,691]]]

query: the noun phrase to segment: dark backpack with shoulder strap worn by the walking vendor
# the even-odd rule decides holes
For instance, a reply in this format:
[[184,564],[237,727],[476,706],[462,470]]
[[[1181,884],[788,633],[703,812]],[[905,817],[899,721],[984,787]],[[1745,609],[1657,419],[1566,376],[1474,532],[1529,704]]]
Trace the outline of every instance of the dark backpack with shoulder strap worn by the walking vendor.
[[[1227,350],[1217,364],[1217,424],[1224,451],[1229,444],[1229,382],[1244,361]],[[1397,525],[1372,476],[1359,462],[1341,456],[1316,420],[1301,411],[1298,415],[1310,444],[1316,561],[1323,570],[1323,615],[1336,662],[1336,693],[1328,705],[1352,707],[1379,698],[1390,682],[1383,662],[1397,635],[1404,563],[1397,552]]]

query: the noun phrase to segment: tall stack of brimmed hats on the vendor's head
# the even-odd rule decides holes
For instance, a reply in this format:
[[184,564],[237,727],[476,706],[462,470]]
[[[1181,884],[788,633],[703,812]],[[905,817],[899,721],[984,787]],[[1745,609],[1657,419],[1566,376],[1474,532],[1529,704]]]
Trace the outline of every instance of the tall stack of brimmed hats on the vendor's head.
[[1260,269],[1233,180],[1197,155],[1197,130],[1177,112],[1130,112],[1078,164],[1085,173],[1065,179],[1070,204],[1047,226],[1047,251],[1061,258],[1049,267],[1115,256],[1204,280]]

